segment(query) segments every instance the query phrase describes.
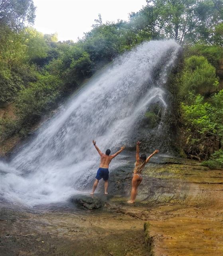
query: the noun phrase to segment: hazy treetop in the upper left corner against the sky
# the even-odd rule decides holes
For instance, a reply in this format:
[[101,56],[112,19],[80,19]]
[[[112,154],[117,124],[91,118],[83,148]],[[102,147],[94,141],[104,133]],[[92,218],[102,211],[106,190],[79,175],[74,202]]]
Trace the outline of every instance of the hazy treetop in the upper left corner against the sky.
[[33,0],[0,0],[0,26],[20,30],[25,23],[34,23],[35,10]]

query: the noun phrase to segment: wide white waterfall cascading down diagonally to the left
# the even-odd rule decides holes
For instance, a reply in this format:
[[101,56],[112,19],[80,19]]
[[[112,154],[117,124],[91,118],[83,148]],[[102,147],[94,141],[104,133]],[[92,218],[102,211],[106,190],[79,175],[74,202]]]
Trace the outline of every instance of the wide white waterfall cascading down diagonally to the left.
[[129,143],[150,104],[159,102],[165,115],[163,86],[178,50],[172,40],[145,42],[91,78],[10,163],[0,163],[4,200],[44,204],[83,190],[99,164],[93,139],[114,153]]

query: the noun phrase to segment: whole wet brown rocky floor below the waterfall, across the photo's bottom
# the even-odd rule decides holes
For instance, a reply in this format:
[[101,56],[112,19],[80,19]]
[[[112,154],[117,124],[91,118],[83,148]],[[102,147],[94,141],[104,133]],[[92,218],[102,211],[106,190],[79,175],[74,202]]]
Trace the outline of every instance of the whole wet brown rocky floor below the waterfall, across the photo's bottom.
[[[132,163],[111,174],[104,208],[72,202],[24,208],[2,203],[2,256],[222,256],[223,170],[195,161],[149,164],[134,205]],[[117,192],[119,191],[119,194]]]

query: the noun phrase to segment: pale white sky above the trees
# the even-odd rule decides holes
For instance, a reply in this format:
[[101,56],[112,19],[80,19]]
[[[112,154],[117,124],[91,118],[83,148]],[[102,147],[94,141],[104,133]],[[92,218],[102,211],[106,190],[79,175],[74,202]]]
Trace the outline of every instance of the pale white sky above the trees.
[[58,40],[77,41],[101,14],[102,22],[128,20],[128,14],[138,12],[146,0],[34,0],[34,28],[43,34],[57,32]]

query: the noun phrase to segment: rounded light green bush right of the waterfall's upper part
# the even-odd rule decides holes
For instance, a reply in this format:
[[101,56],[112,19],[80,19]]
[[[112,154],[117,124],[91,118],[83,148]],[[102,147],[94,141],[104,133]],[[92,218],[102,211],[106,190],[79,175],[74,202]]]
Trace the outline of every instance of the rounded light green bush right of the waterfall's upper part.
[[184,98],[188,97],[188,92],[209,95],[218,88],[215,68],[203,56],[191,56],[185,60],[181,79],[180,94]]

